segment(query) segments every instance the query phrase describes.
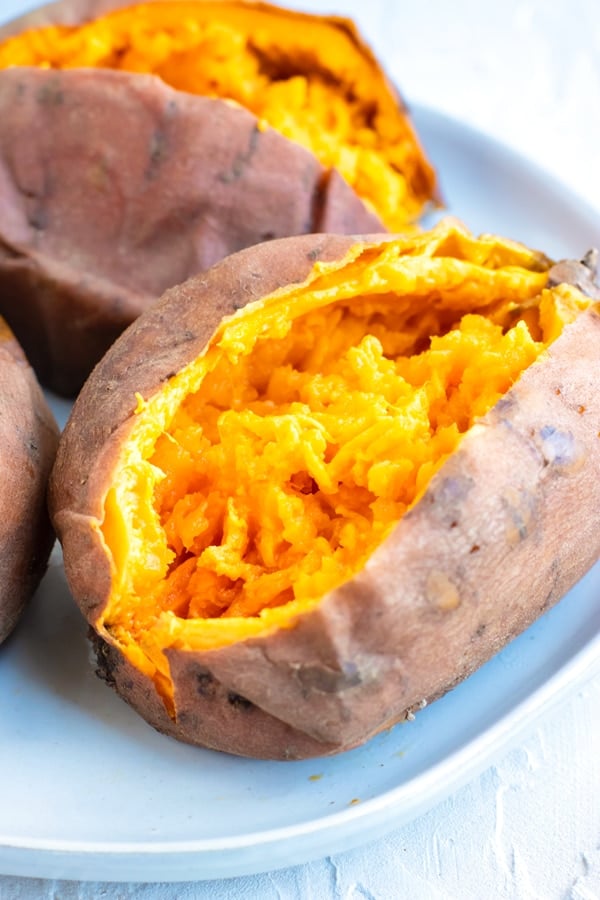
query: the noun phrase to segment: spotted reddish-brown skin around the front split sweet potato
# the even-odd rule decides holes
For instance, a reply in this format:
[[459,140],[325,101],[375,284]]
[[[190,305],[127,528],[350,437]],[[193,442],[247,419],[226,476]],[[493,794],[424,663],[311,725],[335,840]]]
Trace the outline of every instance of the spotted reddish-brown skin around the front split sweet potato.
[[[93,520],[134,393],[159,391],[223,315],[304,279],[353,240],[243,251],[144,314],[80,395],[51,480],[71,589],[92,626],[110,570]],[[177,717],[98,638],[100,670],[152,725],[190,743],[289,759],[349,749],[449,690],[555,603],[600,555],[600,316],[582,314],[464,438],[364,570],[295,627],[168,653]]]

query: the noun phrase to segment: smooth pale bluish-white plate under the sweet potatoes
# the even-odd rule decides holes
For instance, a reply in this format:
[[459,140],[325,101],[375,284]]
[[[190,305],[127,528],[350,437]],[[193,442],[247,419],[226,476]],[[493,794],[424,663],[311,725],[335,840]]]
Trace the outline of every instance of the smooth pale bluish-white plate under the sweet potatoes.
[[[415,110],[451,212],[555,257],[600,243],[600,218],[534,166]],[[64,418],[64,404],[56,406]],[[595,669],[600,566],[412,723],[332,759],[244,760],[155,733],[92,672],[55,553],[0,651],[0,871],[178,881],[289,866],[372,840],[475,777]]]

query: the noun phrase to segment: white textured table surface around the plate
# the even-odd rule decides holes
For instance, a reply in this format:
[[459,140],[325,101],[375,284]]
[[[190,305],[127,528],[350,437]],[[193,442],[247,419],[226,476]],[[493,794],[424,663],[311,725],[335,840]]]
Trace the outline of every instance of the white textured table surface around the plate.
[[[35,5],[0,0],[0,19]],[[499,138],[600,209],[598,0],[293,5],[352,15],[409,101]],[[177,885],[0,876],[1,900],[117,897],[597,900],[600,677],[578,685],[454,796],[358,850]]]

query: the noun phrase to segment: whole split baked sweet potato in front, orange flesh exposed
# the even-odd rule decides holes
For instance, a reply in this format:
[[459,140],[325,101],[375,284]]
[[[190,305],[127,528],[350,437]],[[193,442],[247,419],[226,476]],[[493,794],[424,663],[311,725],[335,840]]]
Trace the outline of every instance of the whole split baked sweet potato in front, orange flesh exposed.
[[595,292],[448,221],[261,244],[168,291],[51,478],[107,680],[184,741],[331,754],[562,597],[600,555],[600,317],[566,281]]

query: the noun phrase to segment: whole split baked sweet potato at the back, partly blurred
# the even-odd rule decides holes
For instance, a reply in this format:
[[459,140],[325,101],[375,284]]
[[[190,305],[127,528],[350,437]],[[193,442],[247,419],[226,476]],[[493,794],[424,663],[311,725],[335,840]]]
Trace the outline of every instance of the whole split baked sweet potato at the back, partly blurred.
[[[119,6],[52,4],[0,43],[0,314],[67,395],[143,308],[223,256],[403,228],[437,196],[350,22],[243,0],[86,21]],[[30,27],[44,21],[80,24]]]

